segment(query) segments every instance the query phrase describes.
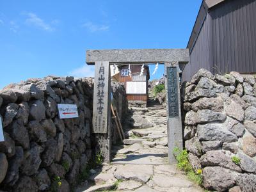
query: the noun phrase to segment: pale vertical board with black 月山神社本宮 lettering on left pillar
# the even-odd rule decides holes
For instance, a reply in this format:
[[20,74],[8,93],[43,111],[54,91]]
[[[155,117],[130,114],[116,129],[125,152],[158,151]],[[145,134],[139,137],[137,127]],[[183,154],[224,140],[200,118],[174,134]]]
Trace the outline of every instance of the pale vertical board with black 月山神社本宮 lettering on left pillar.
[[102,61],[95,65],[93,97],[93,132],[107,133],[108,126],[109,64]]

